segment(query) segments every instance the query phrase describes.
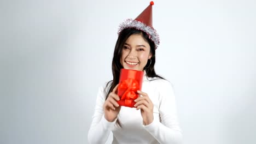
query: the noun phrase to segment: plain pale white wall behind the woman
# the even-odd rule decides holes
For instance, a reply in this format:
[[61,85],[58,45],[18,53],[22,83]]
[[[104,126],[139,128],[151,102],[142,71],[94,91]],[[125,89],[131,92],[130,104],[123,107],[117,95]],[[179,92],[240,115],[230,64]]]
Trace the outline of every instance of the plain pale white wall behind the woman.
[[[256,2],[154,1],[184,143],[256,143]],[[87,143],[120,22],[149,1],[1,1],[0,143]]]

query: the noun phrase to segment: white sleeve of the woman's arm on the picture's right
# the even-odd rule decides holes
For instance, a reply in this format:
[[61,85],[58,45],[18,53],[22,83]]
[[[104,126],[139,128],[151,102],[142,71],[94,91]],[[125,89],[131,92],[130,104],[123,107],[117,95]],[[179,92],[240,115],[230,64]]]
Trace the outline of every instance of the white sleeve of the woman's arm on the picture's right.
[[144,128],[158,140],[159,143],[181,143],[182,134],[179,128],[176,102],[173,87],[170,82],[161,80],[158,86],[160,106],[160,122],[154,121]]

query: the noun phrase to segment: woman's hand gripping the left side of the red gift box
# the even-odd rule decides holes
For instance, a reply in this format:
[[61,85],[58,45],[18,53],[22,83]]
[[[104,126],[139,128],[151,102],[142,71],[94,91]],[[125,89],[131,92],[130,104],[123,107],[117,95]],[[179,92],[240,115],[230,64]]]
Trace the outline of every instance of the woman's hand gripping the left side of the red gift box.
[[113,122],[115,118],[117,118],[118,113],[120,112],[121,106],[117,103],[120,100],[117,95],[118,85],[115,86],[112,92],[109,93],[108,98],[103,104],[103,110],[105,114],[105,118],[108,122]]

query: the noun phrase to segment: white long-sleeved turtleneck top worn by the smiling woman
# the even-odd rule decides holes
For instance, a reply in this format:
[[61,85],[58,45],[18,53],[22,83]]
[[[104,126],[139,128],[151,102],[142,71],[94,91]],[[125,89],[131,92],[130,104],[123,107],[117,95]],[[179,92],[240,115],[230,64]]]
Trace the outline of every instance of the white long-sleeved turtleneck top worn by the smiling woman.
[[88,133],[89,143],[106,143],[110,131],[112,143],[181,143],[182,134],[176,113],[176,103],[171,83],[156,77],[143,77],[142,92],[148,94],[154,104],[154,120],[143,125],[141,111],[122,106],[118,115],[122,128],[116,120],[108,122],[104,118],[103,104],[107,91],[101,86],[98,90],[95,112]]

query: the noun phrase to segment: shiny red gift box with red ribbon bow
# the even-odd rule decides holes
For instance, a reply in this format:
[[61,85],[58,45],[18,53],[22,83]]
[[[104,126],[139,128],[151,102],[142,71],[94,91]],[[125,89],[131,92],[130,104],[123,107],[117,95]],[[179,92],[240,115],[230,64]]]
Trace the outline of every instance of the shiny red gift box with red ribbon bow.
[[137,91],[141,91],[144,71],[121,69],[117,101],[121,106],[134,107],[135,99],[139,97]]

